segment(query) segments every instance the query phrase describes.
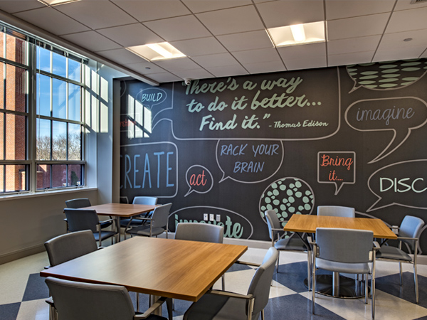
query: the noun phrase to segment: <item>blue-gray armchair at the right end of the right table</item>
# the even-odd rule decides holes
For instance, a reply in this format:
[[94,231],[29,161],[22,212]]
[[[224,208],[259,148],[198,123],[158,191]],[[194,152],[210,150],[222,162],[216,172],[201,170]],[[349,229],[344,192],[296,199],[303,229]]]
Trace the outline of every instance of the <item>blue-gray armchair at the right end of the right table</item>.
[[[415,284],[415,302],[418,304],[418,274],[416,271],[416,260],[418,253],[418,240],[421,235],[424,221],[420,218],[406,215],[402,220],[398,238],[398,247],[393,247],[385,243],[381,245],[381,249],[377,252],[376,257],[379,260],[399,262],[400,284],[402,285],[402,262],[411,263],[413,265],[413,282]],[[413,253],[413,257],[402,250],[402,242],[406,244],[409,252]]]

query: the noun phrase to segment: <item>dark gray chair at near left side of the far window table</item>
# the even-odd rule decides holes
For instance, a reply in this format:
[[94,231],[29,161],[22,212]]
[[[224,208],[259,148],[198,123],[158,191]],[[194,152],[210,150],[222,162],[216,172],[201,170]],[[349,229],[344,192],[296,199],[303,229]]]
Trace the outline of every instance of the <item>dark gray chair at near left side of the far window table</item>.
[[[111,238],[112,243],[112,238],[117,235],[117,231],[105,231],[100,228],[100,219],[96,214],[96,210],[65,208],[64,213],[68,220],[70,232],[91,230],[99,246],[101,246],[103,240],[108,238]],[[112,221],[114,222],[113,219]]]

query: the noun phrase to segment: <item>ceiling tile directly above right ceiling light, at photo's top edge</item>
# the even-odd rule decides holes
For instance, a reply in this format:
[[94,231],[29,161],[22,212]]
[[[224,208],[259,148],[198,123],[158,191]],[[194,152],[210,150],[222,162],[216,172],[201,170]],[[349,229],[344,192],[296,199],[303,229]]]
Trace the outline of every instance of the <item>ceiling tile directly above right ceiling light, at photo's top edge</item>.
[[256,7],[267,28],[325,20],[323,1],[318,0],[271,1]]

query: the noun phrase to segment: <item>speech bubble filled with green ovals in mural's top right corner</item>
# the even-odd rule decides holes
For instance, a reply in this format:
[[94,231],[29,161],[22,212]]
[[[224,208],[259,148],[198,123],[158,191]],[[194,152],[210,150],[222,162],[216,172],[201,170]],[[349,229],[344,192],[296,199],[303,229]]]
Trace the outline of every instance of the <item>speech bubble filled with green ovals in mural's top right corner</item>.
[[[419,61],[419,60],[421,60],[421,61]],[[390,63],[400,63],[401,64],[400,66],[402,66],[404,64],[411,65],[413,63],[418,63],[418,62],[422,64],[423,63],[422,60],[423,60],[422,58],[421,59],[416,59],[416,60],[413,60],[413,59],[411,59],[411,60],[395,60],[395,61],[388,61],[386,63],[389,63],[389,64]],[[361,67],[370,67],[371,65],[384,65],[384,63],[363,63],[363,64],[358,64],[358,65],[361,66]],[[375,90],[375,91],[399,90],[399,89],[402,89],[404,87],[408,87],[409,85],[413,85],[415,82],[418,82],[427,73],[427,70],[426,70],[421,75],[418,76],[417,80],[409,80],[409,81],[406,82],[406,85],[401,85],[400,87],[376,88],[376,87],[369,87],[369,85],[365,85],[365,84],[360,84],[359,83],[359,80],[357,78],[355,78],[354,75],[352,74],[352,72],[355,71],[354,68],[356,66],[357,65],[347,65],[347,67],[346,67],[346,71],[347,71],[347,74],[349,75],[349,78],[351,78],[353,80],[353,82],[354,82],[354,85],[353,85],[352,89],[349,91],[349,93],[352,93],[352,92],[356,91],[360,87],[364,87],[365,89]],[[397,67],[397,65],[396,65],[396,67]],[[364,75],[364,77],[367,77],[367,76],[369,77],[370,75],[372,75],[374,78],[376,78],[376,77],[378,77],[377,74],[380,73],[380,71],[383,71],[383,70],[382,69],[381,70],[365,70],[365,71],[362,71],[361,74]],[[421,68],[421,71],[422,71],[422,68]],[[387,74],[389,74],[389,73],[387,73]],[[406,74],[405,76],[408,76],[408,74]],[[389,77],[387,77],[387,78],[389,78]],[[411,78],[413,78],[413,77],[411,77]]]

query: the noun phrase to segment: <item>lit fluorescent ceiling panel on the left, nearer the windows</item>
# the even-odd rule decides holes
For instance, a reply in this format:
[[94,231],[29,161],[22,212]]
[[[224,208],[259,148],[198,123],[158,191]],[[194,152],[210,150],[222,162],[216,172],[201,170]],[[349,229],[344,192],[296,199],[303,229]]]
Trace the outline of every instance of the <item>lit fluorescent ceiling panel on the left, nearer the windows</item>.
[[143,46],[127,47],[127,50],[148,61],[166,60],[185,57],[178,49],[167,42],[150,43]]

